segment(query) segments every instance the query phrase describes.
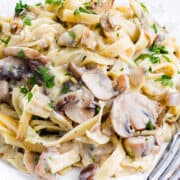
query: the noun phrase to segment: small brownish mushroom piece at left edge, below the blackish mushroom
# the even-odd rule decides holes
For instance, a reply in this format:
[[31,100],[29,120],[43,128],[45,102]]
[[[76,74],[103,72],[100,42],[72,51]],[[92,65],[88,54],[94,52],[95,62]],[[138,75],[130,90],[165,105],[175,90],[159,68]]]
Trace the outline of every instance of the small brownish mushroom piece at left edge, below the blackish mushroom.
[[9,102],[9,84],[7,81],[0,81],[0,102]]

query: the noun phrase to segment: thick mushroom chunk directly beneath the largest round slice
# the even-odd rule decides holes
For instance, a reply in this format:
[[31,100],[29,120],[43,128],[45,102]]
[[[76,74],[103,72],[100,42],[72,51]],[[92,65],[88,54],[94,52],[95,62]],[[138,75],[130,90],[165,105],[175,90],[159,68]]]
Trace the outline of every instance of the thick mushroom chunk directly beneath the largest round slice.
[[130,137],[124,140],[124,148],[132,157],[147,156],[155,145],[154,136]]

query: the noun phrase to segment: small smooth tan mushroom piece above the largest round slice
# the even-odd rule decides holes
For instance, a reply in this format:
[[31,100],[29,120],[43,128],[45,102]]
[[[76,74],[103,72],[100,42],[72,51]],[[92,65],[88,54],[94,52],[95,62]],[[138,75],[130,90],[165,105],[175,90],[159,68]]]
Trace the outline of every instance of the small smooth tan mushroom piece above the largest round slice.
[[129,75],[130,83],[135,88],[141,88],[145,81],[145,70],[143,68],[135,68]]

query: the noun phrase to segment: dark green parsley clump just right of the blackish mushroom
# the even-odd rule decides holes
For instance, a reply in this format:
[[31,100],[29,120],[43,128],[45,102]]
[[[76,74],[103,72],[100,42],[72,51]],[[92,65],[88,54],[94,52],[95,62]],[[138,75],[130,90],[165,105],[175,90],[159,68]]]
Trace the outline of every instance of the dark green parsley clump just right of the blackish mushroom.
[[49,73],[48,68],[41,67],[37,72],[41,76],[41,78],[44,82],[44,85],[47,88],[52,88],[54,86],[55,76]]

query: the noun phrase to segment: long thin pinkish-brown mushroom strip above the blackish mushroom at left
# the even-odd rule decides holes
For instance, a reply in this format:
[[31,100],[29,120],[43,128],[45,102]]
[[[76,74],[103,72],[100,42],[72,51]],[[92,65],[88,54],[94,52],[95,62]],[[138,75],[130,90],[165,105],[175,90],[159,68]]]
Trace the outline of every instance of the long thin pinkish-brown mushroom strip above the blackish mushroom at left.
[[41,55],[38,51],[31,48],[7,47],[3,49],[4,56],[19,57],[19,53],[21,53],[22,59],[37,60],[43,64],[46,64],[50,61],[47,56]]

